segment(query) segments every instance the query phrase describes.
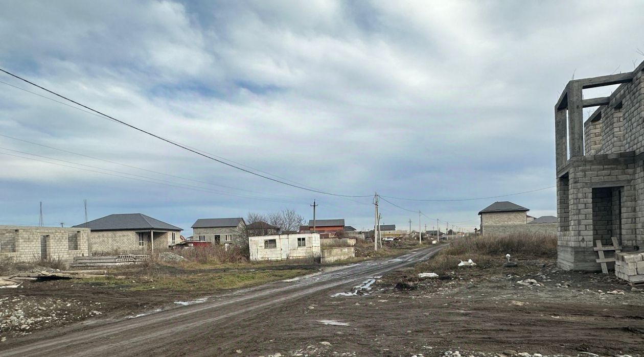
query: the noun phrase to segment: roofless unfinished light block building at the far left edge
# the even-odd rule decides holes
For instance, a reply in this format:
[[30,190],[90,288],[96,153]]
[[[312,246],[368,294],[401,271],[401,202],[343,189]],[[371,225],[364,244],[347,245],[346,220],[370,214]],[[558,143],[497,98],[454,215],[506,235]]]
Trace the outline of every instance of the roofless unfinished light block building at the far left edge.
[[0,259],[33,262],[90,255],[90,230],[40,226],[0,226]]

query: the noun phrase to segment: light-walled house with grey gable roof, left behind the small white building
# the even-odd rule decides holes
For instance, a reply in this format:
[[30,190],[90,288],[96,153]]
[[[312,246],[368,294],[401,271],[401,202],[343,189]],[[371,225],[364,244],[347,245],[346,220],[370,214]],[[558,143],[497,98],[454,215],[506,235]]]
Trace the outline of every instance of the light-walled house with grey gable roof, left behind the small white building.
[[193,226],[193,241],[212,244],[247,243],[246,223],[242,217],[200,218]]

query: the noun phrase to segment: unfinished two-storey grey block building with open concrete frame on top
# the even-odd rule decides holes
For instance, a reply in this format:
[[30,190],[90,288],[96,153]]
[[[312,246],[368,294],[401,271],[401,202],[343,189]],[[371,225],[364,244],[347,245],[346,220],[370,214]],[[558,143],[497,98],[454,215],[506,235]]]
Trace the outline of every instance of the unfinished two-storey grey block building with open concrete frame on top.
[[[554,107],[557,252],[566,270],[600,270],[596,240],[644,247],[643,70],[644,62],[629,73],[571,80]],[[615,84],[610,96],[583,96]],[[586,107],[597,109],[583,122]]]

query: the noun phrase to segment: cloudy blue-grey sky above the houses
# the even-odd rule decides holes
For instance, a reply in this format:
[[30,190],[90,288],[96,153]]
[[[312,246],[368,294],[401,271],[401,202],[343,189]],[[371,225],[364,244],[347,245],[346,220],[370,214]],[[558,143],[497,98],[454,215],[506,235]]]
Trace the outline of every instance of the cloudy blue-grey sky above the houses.
[[[566,82],[644,60],[641,1],[3,3],[0,68],[249,170],[354,196],[551,187]],[[87,199],[90,219],[140,212],[190,235],[198,218],[310,219],[316,199],[319,219],[373,226],[372,197],[258,178],[0,80],[41,95],[0,83],[0,224],[37,225],[40,201],[46,225],[79,224]],[[431,217],[423,228],[471,230],[496,199],[388,200]],[[498,200],[556,214],[554,188]],[[384,201],[381,213],[418,226]]]

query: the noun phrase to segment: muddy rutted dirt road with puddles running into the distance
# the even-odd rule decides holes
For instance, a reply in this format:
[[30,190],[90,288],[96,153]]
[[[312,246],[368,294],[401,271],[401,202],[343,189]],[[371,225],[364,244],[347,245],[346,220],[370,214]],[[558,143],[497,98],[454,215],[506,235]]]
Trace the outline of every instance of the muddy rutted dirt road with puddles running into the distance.
[[[303,309],[313,311],[316,307],[308,305],[308,300],[328,297],[332,291],[350,292],[352,286],[369,282],[370,277],[428,259],[439,249],[427,248],[397,259],[362,262],[313,277],[242,289],[135,318],[95,318],[39,331],[0,345],[0,355],[227,356],[287,352],[293,346],[279,341],[293,337],[289,328],[292,320],[287,317],[306,313]],[[289,325],[281,325],[282,322]],[[279,333],[280,329],[289,332]],[[300,333],[305,339],[307,331]],[[267,340],[266,336],[276,338]]]

